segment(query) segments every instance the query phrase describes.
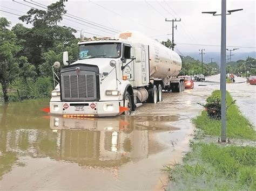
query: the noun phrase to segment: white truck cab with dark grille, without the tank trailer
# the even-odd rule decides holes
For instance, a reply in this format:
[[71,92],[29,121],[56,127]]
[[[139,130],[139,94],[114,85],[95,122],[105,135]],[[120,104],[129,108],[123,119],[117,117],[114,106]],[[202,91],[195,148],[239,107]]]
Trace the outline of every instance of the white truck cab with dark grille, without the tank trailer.
[[149,84],[146,46],[110,38],[82,40],[78,46],[77,61],[69,64],[67,53],[63,55],[65,66],[53,90],[51,114],[116,116],[134,110],[133,87]]

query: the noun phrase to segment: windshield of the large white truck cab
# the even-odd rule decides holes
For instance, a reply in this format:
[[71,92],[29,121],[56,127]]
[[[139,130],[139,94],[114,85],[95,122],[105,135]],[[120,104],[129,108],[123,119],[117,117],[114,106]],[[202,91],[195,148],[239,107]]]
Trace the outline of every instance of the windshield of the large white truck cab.
[[79,45],[79,60],[89,58],[119,58],[120,43],[94,43]]

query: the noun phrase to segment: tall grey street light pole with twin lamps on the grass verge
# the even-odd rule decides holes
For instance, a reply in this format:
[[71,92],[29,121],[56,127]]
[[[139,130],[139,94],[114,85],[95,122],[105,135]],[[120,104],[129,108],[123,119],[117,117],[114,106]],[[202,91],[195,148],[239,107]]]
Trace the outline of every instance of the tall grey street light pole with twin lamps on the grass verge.
[[[242,9],[228,10],[226,0],[221,0],[221,47],[220,47],[220,90],[221,90],[221,142],[226,142],[226,15]],[[202,12],[217,16],[217,11]]]

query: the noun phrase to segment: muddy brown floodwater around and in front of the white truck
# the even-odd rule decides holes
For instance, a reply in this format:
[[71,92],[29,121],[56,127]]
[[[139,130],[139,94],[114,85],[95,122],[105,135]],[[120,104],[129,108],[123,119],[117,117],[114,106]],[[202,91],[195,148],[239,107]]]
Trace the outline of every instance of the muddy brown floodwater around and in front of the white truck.
[[133,116],[62,118],[49,100],[0,105],[0,190],[152,190],[180,161],[201,95],[164,93]]

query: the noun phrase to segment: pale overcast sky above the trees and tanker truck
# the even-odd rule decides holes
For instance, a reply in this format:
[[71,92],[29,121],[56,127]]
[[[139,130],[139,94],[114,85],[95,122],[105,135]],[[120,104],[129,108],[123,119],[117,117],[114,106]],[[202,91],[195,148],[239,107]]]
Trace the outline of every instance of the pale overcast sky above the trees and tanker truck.
[[[21,23],[17,15],[25,15],[31,8],[30,6],[43,9],[44,5],[56,2],[53,0],[15,1],[0,0],[0,10],[2,10],[0,17],[8,18],[12,22],[12,26]],[[116,33],[112,31],[134,30],[158,41],[166,41],[167,38],[172,39],[172,22],[165,22],[165,18],[167,20],[181,19],[181,22],[174,23],[174,26],[177,25],[177,30],[174,29],[174,43],[177,44],[177,52],[199,52],[199,49],[205,49],[205,52],[220,51],[221,16],[212,16],[201,12],[217,11],[217,13],[221,13],[221,0],[68,0],[65,5],[70,17],[63,17],[64,19],[59,25],[71,26],[77,30],[84,29],[87,32],[85,37],[113,37]],[[233,9],[243,10],[233,12],[232,15],[226,17],[227,48],[239,48],[237,50],[239,52],[256,51],[255,1],[227,0],[227,10]],[[74,16],[79,17],[79,20]],[[98,24],[104,29],[99,28]],[[25,23],[24,25],[31,27]],[[79,37],[80,32],[76,36]]]

